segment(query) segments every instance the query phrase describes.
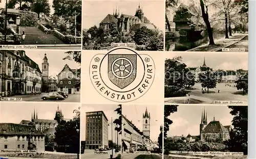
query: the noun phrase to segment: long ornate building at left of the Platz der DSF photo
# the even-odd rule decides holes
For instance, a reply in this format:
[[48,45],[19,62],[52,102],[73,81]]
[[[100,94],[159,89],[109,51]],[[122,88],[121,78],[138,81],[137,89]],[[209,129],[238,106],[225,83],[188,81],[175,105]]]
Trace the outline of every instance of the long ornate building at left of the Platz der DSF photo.
[[42,72],[23,50],[0,50],[0,91],[12,95],[41,92]]

